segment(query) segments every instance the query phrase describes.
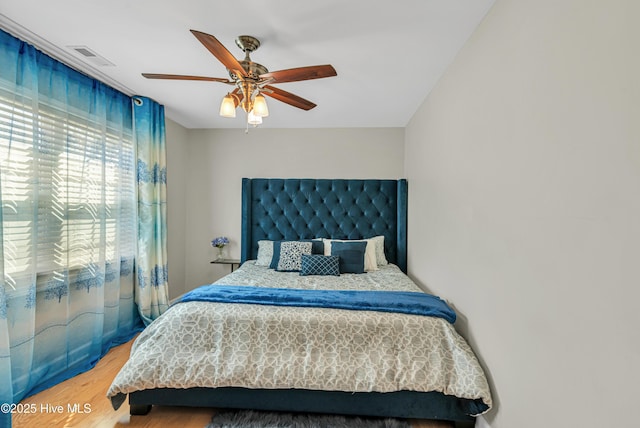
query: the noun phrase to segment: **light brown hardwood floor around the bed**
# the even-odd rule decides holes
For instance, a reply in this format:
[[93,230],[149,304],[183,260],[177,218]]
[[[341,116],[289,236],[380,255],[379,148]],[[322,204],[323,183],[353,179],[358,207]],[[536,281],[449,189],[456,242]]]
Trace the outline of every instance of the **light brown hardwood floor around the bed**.
[[[133,341],[115,347],[86,373],[62,382],[21,402],[30,413],[13,415],[14,428],[204,428],[214,409],[154,406],[146,416],[130,416],[125,402],[117,411],[106,393],[111,381],[129,357]],[[449,428],[436,421],[412,421],[413,428]]]

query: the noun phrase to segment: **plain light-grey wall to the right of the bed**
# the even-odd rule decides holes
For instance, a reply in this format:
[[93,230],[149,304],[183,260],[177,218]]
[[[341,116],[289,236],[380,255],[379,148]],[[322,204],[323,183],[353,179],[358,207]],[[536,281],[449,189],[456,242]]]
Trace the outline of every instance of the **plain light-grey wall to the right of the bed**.
[[497,0],[405,130],[410,275],[459,311],[492,428],[637,425],[639,16]]

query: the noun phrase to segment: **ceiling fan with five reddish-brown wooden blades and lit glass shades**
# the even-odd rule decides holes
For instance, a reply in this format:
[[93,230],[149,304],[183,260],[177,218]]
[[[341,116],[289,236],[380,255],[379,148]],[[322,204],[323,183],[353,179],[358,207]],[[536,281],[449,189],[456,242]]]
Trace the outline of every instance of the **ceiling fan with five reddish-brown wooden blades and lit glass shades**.
[[270,72],[262,64],[251,61],[249,57],[251,52],[260,47],[260,41],[253,36],[243,35],[236,38],[236,45],[245,53],[244,60],[238,61],[214,36],[196,30],[191,30],[191,33],[227,68],[229,78],[152,73],[142,75],[148,79],[202,80],[235,86],[235,89],[222,100],[221,116],[235,117],[235,109],[241,106],[247,112],[248,123],[262,123],[262,117],[269,114],[263,94],[293,107],[311,110],[316,104],[272,84],[337,76],[336,70],[328,64]]

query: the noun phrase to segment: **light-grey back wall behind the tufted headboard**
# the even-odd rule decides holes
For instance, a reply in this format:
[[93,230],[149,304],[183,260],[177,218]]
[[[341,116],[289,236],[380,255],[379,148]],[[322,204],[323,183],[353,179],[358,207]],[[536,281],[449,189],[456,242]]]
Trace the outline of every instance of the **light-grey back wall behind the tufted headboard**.
[[242,177],[403,177],[401,128],[189,130],[188,140],[184,291],[229,272],[229,266],[210,264],[216,236],[228,236],[229,255],[240,257]]

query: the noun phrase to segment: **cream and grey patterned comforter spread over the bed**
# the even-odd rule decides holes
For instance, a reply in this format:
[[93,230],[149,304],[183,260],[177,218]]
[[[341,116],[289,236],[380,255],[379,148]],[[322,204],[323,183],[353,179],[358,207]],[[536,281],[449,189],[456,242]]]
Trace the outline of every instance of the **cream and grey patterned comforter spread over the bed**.
[[[317,277],[249,261],[214,284],[420,291],[394,265]],[[119,406],[123,394],[143,389],[223,386],[440,391],[492,404],[471,348],[443,319],[210,302],[176,304],[151,323],[107,396]]]

